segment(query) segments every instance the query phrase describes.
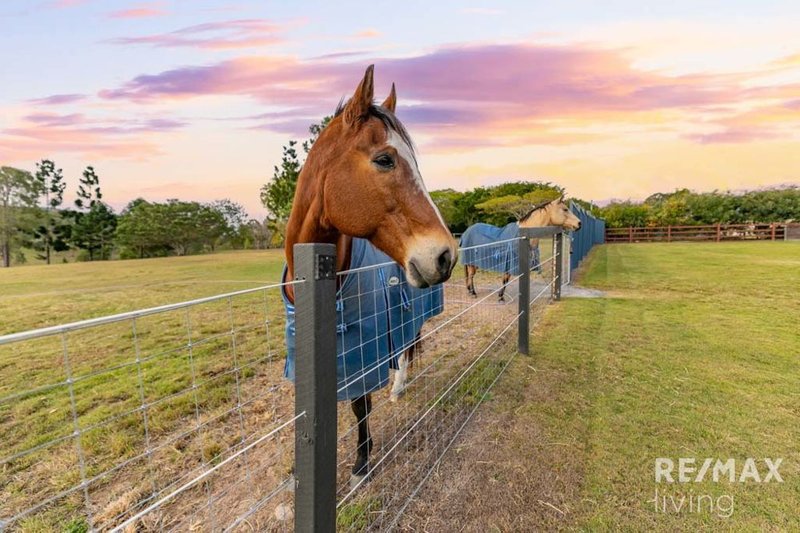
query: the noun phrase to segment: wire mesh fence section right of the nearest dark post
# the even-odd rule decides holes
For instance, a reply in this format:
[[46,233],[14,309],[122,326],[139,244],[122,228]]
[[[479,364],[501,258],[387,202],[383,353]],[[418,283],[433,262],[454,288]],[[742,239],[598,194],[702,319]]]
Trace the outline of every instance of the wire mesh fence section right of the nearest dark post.
[[[473,280],[478,295],[470,296],[466,269],[459,265],[443,287],[441,313],[425,323],[419,337],[402,338],[407,334],[403,327],[431,309],[430,302],[424,301],[431,296],[399,282],[399,289],[409,297],[395,305],[407,311],[406,321],[393,326],[405,342],[386,354],[386,362],[393,359],[400,368],[393,376],[395,381],[373,395],[369,421],[374,445],[369,472],[356,484],[350,472],[357,461],[357,419],[349,409],[342,409],[339,415],[337,529],[377,531],[396,526],[516,354],[520,279],[530,277],[530,308],[538,314],[550,300],[554,271],[550,239],[540,243],[543,253],[538,254],[539,261],[531,262],[530,272],[519,271],[519,257],[513,253],[517,245],[518,239],[513,239],[473,247],[469,254],[462,249],[462,259],[471,256],[487,267]],[[359,286],[380,287],[381,268],[346,275],[355,276]],[[380,291],[373,290],[369,296],[382,297]],[[499,299],[502,293],[504,301]],[[417,296],[411,296],[414,294]],[[414,312],[415,308],[421,311]],[[363,352],[364,347],[358,349]],[[409,349],[414,352],[413,368],[404,370],[397,360]],[[404,383],[398,384],[403,378]]]

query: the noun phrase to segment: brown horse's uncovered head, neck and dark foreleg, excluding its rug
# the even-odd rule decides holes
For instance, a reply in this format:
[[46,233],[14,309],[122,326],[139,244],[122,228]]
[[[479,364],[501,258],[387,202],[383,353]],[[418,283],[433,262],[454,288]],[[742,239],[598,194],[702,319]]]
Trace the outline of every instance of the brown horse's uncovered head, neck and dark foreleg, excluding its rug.
[[[353,237],[369,240],[403,267],[411,285],[447,281],[458,245],[420,176],[411,138],[394,114],[394,84],[380,106],[373,103],[373,67],[353,97],[340,105],[320,133],[297,180],[286,230],[286,279],[294,278],[297,243],[336,244],[337,271],[347,270]],[[294,300],[291,286],[286,296]],[[409,348],[401,357],[410,360]],[[351,401],[358,421],[353,481],[369,472],[371,395]]]

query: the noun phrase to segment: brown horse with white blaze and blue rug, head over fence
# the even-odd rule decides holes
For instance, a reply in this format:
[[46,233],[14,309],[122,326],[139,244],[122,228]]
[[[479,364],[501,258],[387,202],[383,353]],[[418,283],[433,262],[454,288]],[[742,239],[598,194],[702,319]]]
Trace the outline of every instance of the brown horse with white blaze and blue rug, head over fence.
[[[349,357],[345,353],[350,342],[347,324],[344,323],[341,330],[337,327],[337,397],[339,401],[350,401],[358,423],[352,486],[357,486],[369,474],[371,393],[388,384],[390,362],[399,367],[395,379],[405,379],[405,368],[413,357],[419,328],[427,318],[441,312],[439,284],[450,278],[458,260],[458,245],[425,188],[411,138],[394,113],[397,103],[394,84],[381,105],[373,103],[373,93],[373,66],[370,66],[353,96],[345,104],[339,104],[334,118],[308,153],[297,179],[286,229],[284,281],[294,279],[292,250],[297,243],[336,244],[337,272],[381,260],[396,262],[395,270],[382,270],[383,277],[394,283],[373,280],[375,286],[371,290],[381,291],[385,298],[378,298],[379,308],[369,312],[384,317],[381,320],[399,320],[405,324],[406,327],[401,328],[404,340],[373,332],[377,348],[370,354],[373,358],[370,366],[363,357]],[[342,293],[352,290],[356,283],[349,281],[351,274],[337,278],[338,304],[343,300]],[[357,291],[356,298],[360,298],[360,292],[363,287]],[[397,307],[401,313],[410,312],[402,305],[395,305],[396,300],[406,298],[413,302],[426,300],[426,296],[432,303],[421,315],[409,319],[402,314],[399,318],[392,314]],[[293,379],[294,290],[291,285],[284,286],[283,297],[287,311],[285,375]],[[372,302],[376,298],[368,294],[368,298],[360,301],[367,305],[366,300]],[[347,313],[345,309],[343,314]],[[355,319],[358,321],[360,317]],[[350,329],[363,334],[359,331],[362,326],[368,326],[366,320]],[[394,330],[390,327],[390,331]],[[379,339],[383,341],[378,342]],[[399,357],[398,352],[401,353]],[[359,372],[359,379],[349,379]]]

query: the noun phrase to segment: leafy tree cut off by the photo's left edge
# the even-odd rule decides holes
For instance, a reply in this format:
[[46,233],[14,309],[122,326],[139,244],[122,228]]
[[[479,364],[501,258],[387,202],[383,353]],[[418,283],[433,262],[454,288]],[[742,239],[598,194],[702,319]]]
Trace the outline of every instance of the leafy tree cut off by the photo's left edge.
[[11,266],[14,246],[21,244],[31,231],[33,212],[42,192],[40,182],[30,172],[0,167],[0,256],[4,267]]

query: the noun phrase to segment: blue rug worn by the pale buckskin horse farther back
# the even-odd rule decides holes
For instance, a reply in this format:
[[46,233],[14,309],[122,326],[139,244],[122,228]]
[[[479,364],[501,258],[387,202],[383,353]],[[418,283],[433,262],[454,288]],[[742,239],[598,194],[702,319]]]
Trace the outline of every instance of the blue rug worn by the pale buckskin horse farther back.
[[[461,235],[461,262],[482,270],[492,270],[518,276],[519,252],[517,242],[519,224],[512,222],[502,228],[491,224],[473,224]],[[508,241],[508,242],[502,242]],[[494,244],[499,243],[499,244]],[[539,247],[531,248],[531,270],[541,272]]]

